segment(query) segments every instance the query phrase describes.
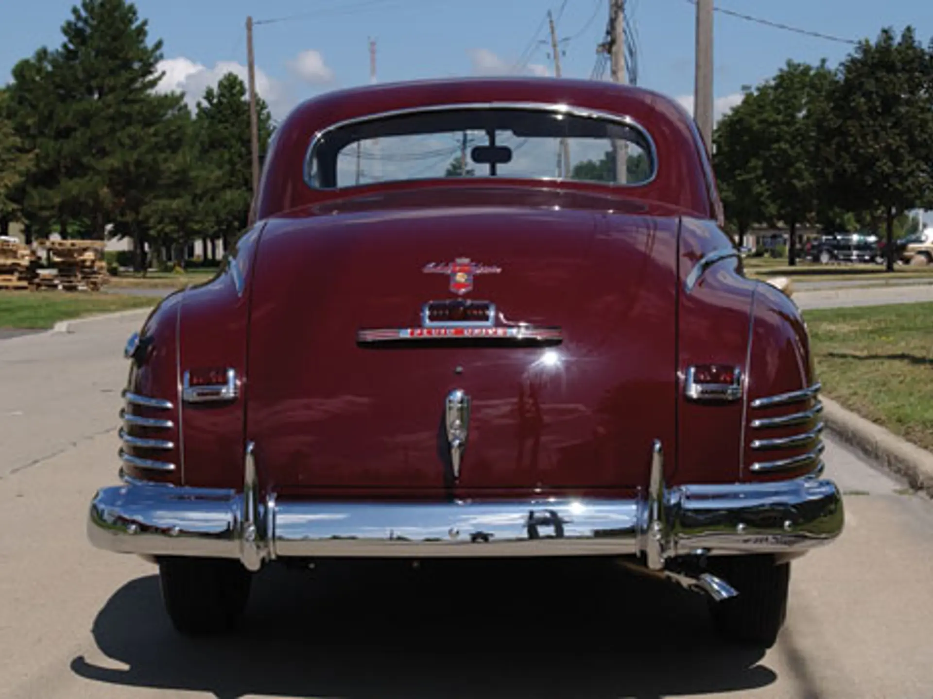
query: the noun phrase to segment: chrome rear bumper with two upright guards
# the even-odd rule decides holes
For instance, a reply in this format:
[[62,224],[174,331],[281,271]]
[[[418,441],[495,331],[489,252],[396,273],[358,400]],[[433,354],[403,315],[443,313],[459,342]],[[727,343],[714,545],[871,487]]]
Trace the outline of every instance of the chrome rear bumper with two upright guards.
[[842,531],[842,496],[815,477],[772,483],[663,484],[655,444],[647,491],[631,500],[328,502],[259,496],[252,449],[243,492],[130,481],[91,502],[98,548],[234,558],[250,570],[283,557],[787,554]]

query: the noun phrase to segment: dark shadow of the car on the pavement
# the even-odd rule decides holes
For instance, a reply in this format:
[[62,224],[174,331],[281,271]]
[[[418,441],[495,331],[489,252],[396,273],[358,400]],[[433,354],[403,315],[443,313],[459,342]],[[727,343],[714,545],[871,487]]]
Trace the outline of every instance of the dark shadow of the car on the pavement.
[[[71,663],[126,687],[353,697],[609,697],[771,684],[760,649],[717,640],[703,597],[611,562],[428,561],[272,566],[240,628],[174,632],[157,576],[121,587],[93,624],[127,669]],[[107,665],[110,665],[107,663]]]

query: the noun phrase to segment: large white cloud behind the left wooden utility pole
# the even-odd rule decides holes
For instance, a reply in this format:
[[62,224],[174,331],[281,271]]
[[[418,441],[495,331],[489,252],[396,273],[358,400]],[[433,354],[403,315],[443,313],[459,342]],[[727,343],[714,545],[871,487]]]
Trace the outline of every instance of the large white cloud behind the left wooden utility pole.
[[[213,68],[196,63],[185,57],[165,59],[156,66],[165,75],[156,86],[157,92],[184,92],[185,102],[193,110],[204,95],[204,90],[215,87],[221,77],[232,73],[246,83],[246,66],[235,61],[218,61]],[[256,92],[269,104],[272,117],[285,117],[294,101],[278,80],[256,69]]]

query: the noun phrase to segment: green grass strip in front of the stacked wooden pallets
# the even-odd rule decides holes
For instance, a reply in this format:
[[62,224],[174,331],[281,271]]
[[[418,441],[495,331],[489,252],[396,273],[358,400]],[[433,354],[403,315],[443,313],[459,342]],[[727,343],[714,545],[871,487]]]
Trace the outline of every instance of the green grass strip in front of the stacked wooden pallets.
[[146,296],[91,292],[0,291],[0,328],[50,328],[56,322],[95,313],[154,306]]

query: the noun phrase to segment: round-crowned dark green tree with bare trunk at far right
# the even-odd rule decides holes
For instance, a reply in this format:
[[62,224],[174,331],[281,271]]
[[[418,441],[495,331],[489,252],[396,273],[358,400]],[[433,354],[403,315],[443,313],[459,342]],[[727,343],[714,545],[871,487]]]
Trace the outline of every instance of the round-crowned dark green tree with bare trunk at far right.
[[842,63],[823,132],[833,197],[881,213],[893,270],[898,215],[933,202],[933,45],[911,27],[859,44]]

